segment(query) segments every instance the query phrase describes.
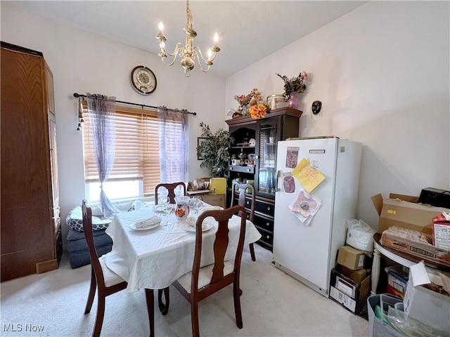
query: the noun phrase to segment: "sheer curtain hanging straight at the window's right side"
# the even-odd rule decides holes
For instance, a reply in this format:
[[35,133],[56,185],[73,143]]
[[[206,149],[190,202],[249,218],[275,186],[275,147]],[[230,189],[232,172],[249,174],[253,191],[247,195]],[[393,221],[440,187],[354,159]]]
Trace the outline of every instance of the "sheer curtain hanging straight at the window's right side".
[[158,107],[161,183],[187,181],[187,110]]

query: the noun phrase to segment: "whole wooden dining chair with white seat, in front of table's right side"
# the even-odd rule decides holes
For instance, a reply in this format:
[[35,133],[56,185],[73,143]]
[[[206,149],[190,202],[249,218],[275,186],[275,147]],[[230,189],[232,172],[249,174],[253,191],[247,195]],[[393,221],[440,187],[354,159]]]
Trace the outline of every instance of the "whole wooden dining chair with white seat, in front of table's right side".
[[[233,206],[224,210],[205,211],[200,214],[195,230],[195,254],[192,272],[181,276],[173,284],[181,295],[191,303],[192,334],[195,337],[200,336],[198,303],[200,300],[207,298],[229,284],[233,284],[236,325],[239,329],[243,327],[242,313],[240,311],[239,275],[245,239],[245,216],[240,218],[240,233],[236,256],[234,260],[225,260],[225,253],[229,244],[229,220],[233,214],[239,211],[245,215],[243,206]],[[202,224],[205,218],[209,216],[212,216],[219,223],[214,239],[214,263],[200,267],[200,260],[202,258]]]

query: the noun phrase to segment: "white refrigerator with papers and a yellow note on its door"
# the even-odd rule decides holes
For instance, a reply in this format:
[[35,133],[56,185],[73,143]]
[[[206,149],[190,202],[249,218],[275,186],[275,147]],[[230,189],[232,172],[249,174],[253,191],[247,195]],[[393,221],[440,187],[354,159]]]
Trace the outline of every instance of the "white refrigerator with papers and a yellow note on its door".
[[[336,253],[345,245],[345,222],[356,217],[361,148],[361,143],[328,136],[278,142],[274,264],[326,297]],[[309,193],[301,178],[291,174],[302,159],[324,177]],[[309,216],[303,213],[304,222],[289,207],[299,201],[302,209],[308,212],[309,206],[311,211]]]

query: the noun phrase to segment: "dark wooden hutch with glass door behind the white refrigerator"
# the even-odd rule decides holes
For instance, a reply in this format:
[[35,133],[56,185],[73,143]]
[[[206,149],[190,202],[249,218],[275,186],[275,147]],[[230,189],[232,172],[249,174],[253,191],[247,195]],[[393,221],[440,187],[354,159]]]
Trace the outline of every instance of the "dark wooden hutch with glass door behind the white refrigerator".
[[[254,223],[262,234],[257,243],[270,251],[274,242],[276,145],[278,140],[299,136],[301,115],[299,110],[283,107],[271,110],[262,119],[246,116],[226,121],[234,138],[229,147],[227,205],[231,202],[233,180],[255,186]],[[247,204],[250,205],[250,200]]]

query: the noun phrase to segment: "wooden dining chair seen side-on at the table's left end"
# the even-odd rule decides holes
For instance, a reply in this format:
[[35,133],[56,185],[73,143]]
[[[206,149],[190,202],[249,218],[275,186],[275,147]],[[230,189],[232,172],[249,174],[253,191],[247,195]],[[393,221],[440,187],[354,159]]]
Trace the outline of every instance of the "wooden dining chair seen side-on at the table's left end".
[[[103,325],[103,317],[105,315],[105,298],[117,291],[127,288],[127,282],[119,275],[110,270],[105,263],[105,255],[100,258],[97,255],[96,247],[94,245],[94,234],[92,230],[92,210],[87,205],[86,200],[82,201],[83,212],[83,230],[86,238],[87,246],[89,248],[89,255],[91,256],[91,286],[89,289],[89,296],[87,298],[86,310],[84,315],[91,312],[92,304],[94,303],[94,296],[96,289],[98,289],[98,305],[96,324],[92,336],[98,337],[101,333]],[[153,289],[146,289],[146,301],[148,310],[148,320],[150,323],[150,336],[154,336],[154,308],[153,308]]]

